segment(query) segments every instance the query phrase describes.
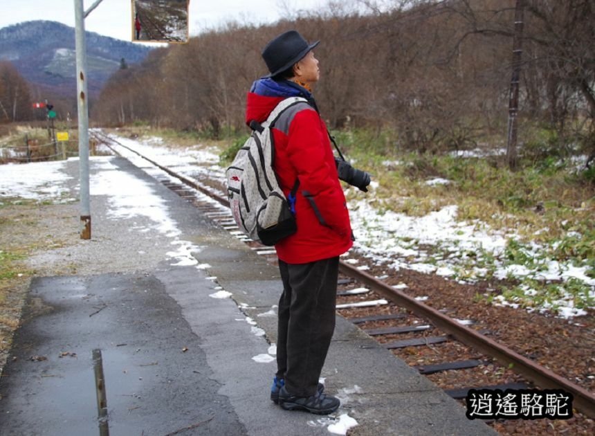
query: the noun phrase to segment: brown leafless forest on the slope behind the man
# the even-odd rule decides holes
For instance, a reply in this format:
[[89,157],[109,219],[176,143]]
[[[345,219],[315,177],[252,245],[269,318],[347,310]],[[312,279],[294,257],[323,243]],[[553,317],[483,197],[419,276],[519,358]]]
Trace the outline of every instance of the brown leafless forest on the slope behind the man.
[[316,15],[228,24],[152,51],[111,77],[92,118],[235,136],[246,131],[250,84],[267,73],[262,47],[295,28],[321,41],[315,97],[331,129],[374,132],[383,138],[374,141],[379,152],[505,147],[515,7],[522,6],[519,142],[526,153],[593,160],[594,1],[392,1],[388,12],[357,3],[368,12],[328,3]]

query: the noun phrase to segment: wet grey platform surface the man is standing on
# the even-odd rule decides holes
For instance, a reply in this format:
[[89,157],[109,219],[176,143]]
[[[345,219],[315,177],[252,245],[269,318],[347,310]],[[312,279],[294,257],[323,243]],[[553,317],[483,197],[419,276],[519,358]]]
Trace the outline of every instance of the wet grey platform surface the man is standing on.
[[[275,406],[276,267],[143,170],[122,158],[109,165],[91,160],[91,171],[143,181],[178,231],[147,233],[149,218],[114,217],[109,196],[94,196],[95,242],[36,260],[96,262],[32,281],[0,379],[1,435],[97,434],[93,349],[103,356],[111,435],[329,435],[345,414],[358,421],[350,435],[495,434],[341,317],[322,373],[341,408],[318,417]],[[176,262],[172,245],[186,242],[195,261]],[[232,296],[214,298],[220,291]]]

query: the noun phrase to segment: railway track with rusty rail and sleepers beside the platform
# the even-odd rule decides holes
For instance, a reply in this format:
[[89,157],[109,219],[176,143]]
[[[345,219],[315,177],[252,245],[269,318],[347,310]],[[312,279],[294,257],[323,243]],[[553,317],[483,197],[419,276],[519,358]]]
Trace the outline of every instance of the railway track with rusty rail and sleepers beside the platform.
[[[125,147],[129,152],[134,152],[175,178],[176,182],[172,182],[171,179],[162,179],[162,183],[181,197],[192,201],[205,215],[217,221],[239,239],[244,240],[259,255],[268,257],[271,262],[275,262],[274,248],[257,244],[238,231],[231,214],[226,212],[226,208],[229,206],[228,199],[220,191],[184,174],[178,174],[98,131],[94,131],[93,136],[106,143],[116,154],[119,154],[118,147]],[[201,198],[197,199],[192,190],[201,192]],[[478,331],[468,325],[470,322],[461,322],[461,320],[447,316],[443,311],[423,304],[400,289],[396,289],[399,287],[387,284],[383,280],[384,278],[377,278],[367,273],[362,266],[354,266],[354,264],[342,260],[340,273],[338,312],[360,325],[378,342],[388,349],[392,349],[394,354],[404,353],[407,357],[406,354],[412,352],[412,347],[419,345],[432,347],[435,346],[433,344],[439,343],[449,343],[451,347],[457,348],[454,358],[452,353],[445,353],[447,361],[424,364],[421,359],[422,361],[415,366],[422,374],[435,374],[443,371],[464,372],[464,370],[473,367],[480,368],[484,372],[514,372],[518,374],[518,376],[512,377],[512,380],[511,376],[508,376],[506,383],[490,385],[466,383],[464,376],[461,376],[458,378],[457,389],[447,390],[452,397],[463,399],[468,395],[470,389],[500,389],[504,391],[506,389],[539,388],[541,390],[562,390],[572,395],[574,398],[572,405],[576,410],[585,417],[595,418],[595,396],[592,392],[556,374],[544,365],[539,365],[531,358],[522,356],[510,347],[498,343],[488,336],[490,331]],[[363,308],[367,308],[365,313],[367,316],[360,315]],[[369,314],[370,311],[374,313]],[[405,339],[394,340],[403,335],[406,336]],[[461,359],[459,356],[472,356],[473,358]]]

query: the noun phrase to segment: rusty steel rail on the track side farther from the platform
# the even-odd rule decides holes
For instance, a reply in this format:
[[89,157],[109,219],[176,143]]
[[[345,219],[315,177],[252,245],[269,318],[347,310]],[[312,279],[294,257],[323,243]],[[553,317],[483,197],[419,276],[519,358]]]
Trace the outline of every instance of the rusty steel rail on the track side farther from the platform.
[[[96,134],[97,132],[93,133]],[[136,150],[119,143],[117,140],[109,138],[107,135],[105,137],[114,143],[117,143],[121,147],[125,147],[131,152],[138,154],[138,156],[144,158],[153,165],[156,165],[156,167],[159,167],[161,170],[167,172],[167,174],[170,174],[171,176],[174,176],[183,183],[186,183],[192,188],[195,188],[196,190],[203,192],[203,194],[206,194],[209,197],[219,201],[219,203],[221,203],[223,206],[229,207],[228,199],[224,199],[223,197],[214,194],[214,192],[206,190],[198,183],[187,179],[187,177],[182,176],[181,174],[177,174],[176,172],[164,167],[163,165],[160,165],[159,163],[156,163],[152,159],[143,156]],[[449,316],[442,314],[440,311],[437,311],[428,305],[424,305],[423,302],[419,302],[407,294],[399,291],[398,289],[390,287],[390,285],[385,284],[381,280],[374,278],[372,275],[369,275],[364,271],[360,271],[354,266],[340,261],[339,270],[345,275],[348,275],[349,277],[366,284],[374,291],[381,294],[381,296],[394,302],[396,305],[405,307],[405,309],[412,311],[417,316],[430,320],[433,325],[457,338],[457,340],[461,341],[461,343],[464,343],[469,347],[473,347],[480,352],[484,352],[488,356],[495,358],[497,361],[500,361],[500,363],[506,366],[510,366],[511,370],[517,372],[518,374],[522,374],[522,376],[526,377],[529,381],[532,381],[540,388],[561,389],[565,392],[571,393],[573,396],[573,407],[576,408],[576,410],[583,412],[588,417],[595,418],[595,395],[585,388],[580,387],[576,383],[572,383],[571,381],[559,376],[546,367],[531,361],[529,358],[524,357],[521,354],[518,354],[518,352],[513,351],[509,347],[497,343],[495,340],[488,338],[487,336],[480,334],[479,332],[470,329],[461,323],[458,323],[456,320],[453,320]]]

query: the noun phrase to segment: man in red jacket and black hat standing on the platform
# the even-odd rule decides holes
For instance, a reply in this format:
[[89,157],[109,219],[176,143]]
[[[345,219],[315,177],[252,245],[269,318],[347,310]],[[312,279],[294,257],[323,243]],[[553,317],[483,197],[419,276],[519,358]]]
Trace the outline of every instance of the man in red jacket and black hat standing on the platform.
[[[324,394],[318,379],[335,329],[339,255],[351,248],[354,237],[327,127],[312,96],[320,78],[313,53],[318,43],[309,44],[290,30],[266,45],[262,57],[270,74],[248,93],[246,123],[263,122],[285,98],[307,100],[282,112],[273,126],[280,186],[286,197],[296,180],[299,188],[297,232],[275,245],[283,293],[271,399],[286,410],[326,415],[340,401]],[[369,184],[369,175],[360,173]]]

